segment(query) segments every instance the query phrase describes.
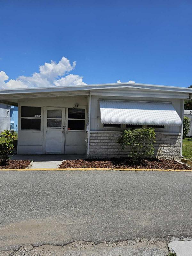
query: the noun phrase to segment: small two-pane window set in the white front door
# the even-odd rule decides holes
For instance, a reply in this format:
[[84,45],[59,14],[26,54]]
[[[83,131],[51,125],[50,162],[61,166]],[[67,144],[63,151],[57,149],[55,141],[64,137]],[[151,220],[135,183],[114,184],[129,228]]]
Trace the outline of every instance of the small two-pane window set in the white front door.
[[62,110],[47,110],[47,128],[61,128]]

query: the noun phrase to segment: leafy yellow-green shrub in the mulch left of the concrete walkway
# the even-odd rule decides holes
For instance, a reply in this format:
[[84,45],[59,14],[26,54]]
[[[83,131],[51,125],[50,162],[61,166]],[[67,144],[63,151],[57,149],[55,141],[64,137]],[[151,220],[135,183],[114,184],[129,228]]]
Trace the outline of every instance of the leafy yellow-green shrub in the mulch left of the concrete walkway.
[[1,132],[0,134],[2,137],[4,137],[4,143],[0,146],[0,161],[1,164],[6,164],[6,160],[8,159],[8,155],[12,153],[14,148],[14,140],[15,135],[14,131],[4,130],[4,132]]

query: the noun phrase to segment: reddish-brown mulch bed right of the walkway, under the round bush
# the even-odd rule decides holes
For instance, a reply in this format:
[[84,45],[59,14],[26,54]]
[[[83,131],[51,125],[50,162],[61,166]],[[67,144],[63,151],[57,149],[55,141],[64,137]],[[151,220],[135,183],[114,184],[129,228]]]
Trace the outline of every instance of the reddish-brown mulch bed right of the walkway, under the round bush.
[[139,168],[139,169],[182,169],[191,170],[185,164],[180,164],[175,160],[166,159],[142,159],[133,163],[129,158],[111,159],[77,159],[66,160],[60,164],[59,168]]

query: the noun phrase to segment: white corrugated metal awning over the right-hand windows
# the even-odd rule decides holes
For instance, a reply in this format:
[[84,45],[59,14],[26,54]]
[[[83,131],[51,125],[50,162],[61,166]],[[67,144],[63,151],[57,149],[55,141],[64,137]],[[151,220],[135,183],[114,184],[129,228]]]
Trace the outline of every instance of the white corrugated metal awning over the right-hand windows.
[[174,125],[182,124],[171,103],[100,100],[102,124]]

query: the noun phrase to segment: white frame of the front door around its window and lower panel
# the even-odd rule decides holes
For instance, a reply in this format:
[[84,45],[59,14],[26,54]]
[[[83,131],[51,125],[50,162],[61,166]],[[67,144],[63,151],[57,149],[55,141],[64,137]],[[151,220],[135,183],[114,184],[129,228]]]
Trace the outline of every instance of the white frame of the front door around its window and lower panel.
[[[61,110],[62,120],[61,128],[47,128],[47,110]],[[66,137],[66,107],[43,107],[43,153],[44,154],[64,154],[65,153],[65,137]],[[63,129],[63,127],[65,129]],[[46,131],[57,131],[62,132],[62,150],[61,152],[46,152]]]

